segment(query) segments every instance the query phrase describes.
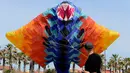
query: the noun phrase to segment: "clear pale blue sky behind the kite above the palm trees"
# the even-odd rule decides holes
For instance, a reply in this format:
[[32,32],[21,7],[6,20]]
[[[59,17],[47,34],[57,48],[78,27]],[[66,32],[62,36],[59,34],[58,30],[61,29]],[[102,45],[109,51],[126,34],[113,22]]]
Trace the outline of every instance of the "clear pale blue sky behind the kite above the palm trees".
[[[30,22],[63,0],[0,0],[0,46],[10,43],[5,34]],[[118,31],[120,37],[108,47],[112,54],[130,57],[130,0],[69,0],[98,24]]]

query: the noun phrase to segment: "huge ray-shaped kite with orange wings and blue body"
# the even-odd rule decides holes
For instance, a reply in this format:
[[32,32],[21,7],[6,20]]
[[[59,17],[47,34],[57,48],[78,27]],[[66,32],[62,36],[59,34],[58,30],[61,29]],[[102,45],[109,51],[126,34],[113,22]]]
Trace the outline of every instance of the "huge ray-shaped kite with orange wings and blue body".
[[88,58],[81,45],[91,42],[94,52],[100,54],[119,33],[98,25],[73,3],[63,1],[18,30],[7,32],[6,37],[42,67],[53,62],[57,73],[69,73],[71,62],[82,67]]

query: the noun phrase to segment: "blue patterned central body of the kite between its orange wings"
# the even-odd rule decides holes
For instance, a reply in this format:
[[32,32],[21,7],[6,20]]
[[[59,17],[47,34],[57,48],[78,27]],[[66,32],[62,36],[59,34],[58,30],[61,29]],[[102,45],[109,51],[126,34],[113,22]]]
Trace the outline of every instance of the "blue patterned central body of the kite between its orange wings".
[[[81,10],[75,5],[72,3],[69,4],[75,9],[74,15],[69,21],[62,21],[57,17],[59,5],[43,13],[43,16],[48,16],[48,28],[51,32],[51,35],[49,35],[49,33],[45,31],[46,34],[48,34],[48,43],[46,43],[47,49],[45,50],[48,54],[46,60],[47,64],[52,61],[54,62],[58,73],[69,73],[68,70],[71,62],[80,64],[80,55],[83,54],[84,62],[82,61],[82,63],[84,64],[88,56],[87,51],[85,53],[80,51],[82,37],[77,37],[80,32],[80,26],[82,25],[80,18],[86,18],[86,16],[83,15]],[[64,69],[67,70],[64,72]]]

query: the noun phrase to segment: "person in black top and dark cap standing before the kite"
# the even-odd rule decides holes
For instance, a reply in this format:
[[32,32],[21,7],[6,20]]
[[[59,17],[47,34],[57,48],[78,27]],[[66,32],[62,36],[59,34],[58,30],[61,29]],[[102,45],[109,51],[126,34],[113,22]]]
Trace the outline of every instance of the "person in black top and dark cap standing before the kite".
[[90,73],[101,73],[102,59],[99,54],[93,52],[93,44],[88,42],[85,44],[89,57],[85,63],[85,71]]

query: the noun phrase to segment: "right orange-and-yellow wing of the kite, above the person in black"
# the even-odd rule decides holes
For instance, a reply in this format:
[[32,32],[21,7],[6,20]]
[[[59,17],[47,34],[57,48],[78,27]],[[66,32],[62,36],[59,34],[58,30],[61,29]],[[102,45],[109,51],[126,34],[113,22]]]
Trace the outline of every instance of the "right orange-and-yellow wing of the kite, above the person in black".
[[81,17],[80,19],[83,22],[80,27],[80,30],[84,30],[82,36],[83,43],[91,42],[94,45],[95,53],[102,53],[119,37],[118,32],[98,25],[90,17]]

